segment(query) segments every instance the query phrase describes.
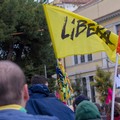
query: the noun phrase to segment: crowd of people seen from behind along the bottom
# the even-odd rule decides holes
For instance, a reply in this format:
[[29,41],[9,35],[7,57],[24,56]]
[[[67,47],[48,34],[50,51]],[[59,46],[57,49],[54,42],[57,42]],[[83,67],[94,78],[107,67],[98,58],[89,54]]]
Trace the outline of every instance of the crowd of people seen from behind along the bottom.
[[[116,98],[114,120],[120,120],[119,101]],[[110,120],[111,103],[104,108],[79,95],[72,110],[50,93],[43,75],[34,75],[28,88],[17,64],[0,61],[0,120]]]

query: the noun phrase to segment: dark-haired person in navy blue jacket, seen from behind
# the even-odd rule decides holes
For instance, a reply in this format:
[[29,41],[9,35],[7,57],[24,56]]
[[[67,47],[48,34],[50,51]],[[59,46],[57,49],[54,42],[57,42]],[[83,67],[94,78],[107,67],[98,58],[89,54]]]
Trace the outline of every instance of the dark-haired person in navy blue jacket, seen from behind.
[[74,120],[74,112],[57,97],[51,96],[44,76],[35,75],[29,88],[30,99],[26,104],[29,114],[56,116],[60,120]]

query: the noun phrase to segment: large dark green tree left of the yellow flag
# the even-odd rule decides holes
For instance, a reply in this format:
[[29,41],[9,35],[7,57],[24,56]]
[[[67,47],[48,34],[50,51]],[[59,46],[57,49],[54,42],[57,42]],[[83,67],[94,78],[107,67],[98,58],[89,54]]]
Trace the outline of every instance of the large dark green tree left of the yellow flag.
[[0,2],[0,59],[19,64],[27,78],[34,73],[48,77],[55,72],[56,60],[42,4],[34,0]]

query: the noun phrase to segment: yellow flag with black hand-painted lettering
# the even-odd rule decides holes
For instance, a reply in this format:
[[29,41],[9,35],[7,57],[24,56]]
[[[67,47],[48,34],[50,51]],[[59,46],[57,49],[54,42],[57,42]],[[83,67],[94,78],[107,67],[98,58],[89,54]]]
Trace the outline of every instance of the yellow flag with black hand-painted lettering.
[[56,58],[105,51],[115,61],[118,35],[63,8],[43,5]]

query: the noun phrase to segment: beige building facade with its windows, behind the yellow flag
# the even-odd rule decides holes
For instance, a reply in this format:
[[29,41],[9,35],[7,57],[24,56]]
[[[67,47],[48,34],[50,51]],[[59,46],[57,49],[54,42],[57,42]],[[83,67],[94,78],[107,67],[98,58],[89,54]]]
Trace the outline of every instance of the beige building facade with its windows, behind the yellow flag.
[[[120,29],[120,0],[94,0],[90,4],[78,7],[74,12],[96,21],[116,34]],[[71,82],[76,84],[76,79],[80,79],[80,85],[84,86],[83,94],[91,101],[99,102],[95,88],[90,86],[90,82],[94,80],[96,67],[111,71],[114,79],[115,63],[112,63],[104,52],[69,56],[63,61]]]

